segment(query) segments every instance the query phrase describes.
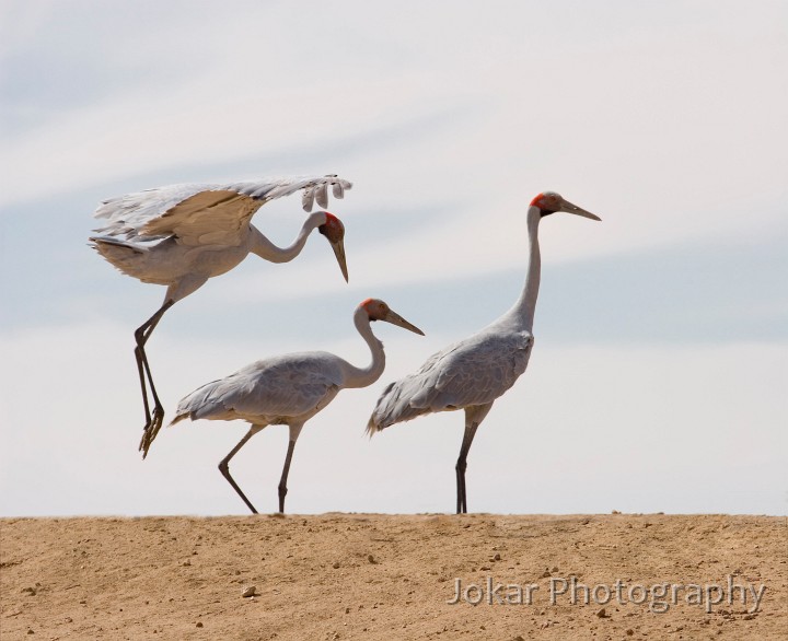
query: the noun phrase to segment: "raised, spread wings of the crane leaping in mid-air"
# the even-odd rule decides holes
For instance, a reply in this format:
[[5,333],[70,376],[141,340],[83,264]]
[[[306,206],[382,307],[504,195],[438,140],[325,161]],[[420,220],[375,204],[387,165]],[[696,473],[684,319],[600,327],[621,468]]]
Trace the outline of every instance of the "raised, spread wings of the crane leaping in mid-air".
[[343,198],[352,184],[337,176],[260,178],[225,185],[169,185],[104,201],[94,217],[107,224],[100,234],[126,241],[159,241],[176,236],[179,243],[237,245],[252,215],[266,202],[303,190],[302,205],[328,205],[328,187]]

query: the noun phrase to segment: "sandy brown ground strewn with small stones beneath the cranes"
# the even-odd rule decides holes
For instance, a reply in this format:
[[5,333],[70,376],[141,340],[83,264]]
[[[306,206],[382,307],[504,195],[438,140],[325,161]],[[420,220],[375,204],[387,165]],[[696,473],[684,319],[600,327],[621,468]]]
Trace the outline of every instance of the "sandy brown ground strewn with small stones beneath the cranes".
[[3,640],[788,639],[788,521],[4,518],[0,603]]

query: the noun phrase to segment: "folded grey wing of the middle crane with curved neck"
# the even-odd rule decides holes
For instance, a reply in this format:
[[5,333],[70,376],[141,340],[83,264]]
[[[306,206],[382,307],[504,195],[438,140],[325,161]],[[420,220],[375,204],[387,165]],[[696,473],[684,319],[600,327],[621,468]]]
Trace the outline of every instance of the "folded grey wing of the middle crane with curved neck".
[[177,415],[255,421],[315,413],[336,396],[341,374],[331,354],[306,352],[253,363],[184,398]]

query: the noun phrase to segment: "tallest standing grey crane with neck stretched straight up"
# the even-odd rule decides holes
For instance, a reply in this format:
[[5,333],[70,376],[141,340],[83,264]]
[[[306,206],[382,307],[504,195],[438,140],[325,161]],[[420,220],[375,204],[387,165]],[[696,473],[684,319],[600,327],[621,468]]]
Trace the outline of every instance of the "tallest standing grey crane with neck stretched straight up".
[[455,466],[457,514],[467,512],[465,470],[476,430],[495,400],[528,366],[541,272],[538,224],[559,211],[601,220],[554,191],[536,196],[528,209],[529,268],[518,301],[480,331],[432,354],[415,374],[389,385],[367,426],[371,436],[421,415],[465,410],[465,432]]

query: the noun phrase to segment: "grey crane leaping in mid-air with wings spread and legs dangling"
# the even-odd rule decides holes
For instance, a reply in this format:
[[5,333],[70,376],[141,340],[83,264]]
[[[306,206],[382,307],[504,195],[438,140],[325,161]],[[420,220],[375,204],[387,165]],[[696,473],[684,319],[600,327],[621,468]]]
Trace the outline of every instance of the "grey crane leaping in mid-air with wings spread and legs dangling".
[[[146,343],[164,313],[215,276],[230,271],[248,254],[271,263],[287,263],[303,249],[317,230],[331,243],[347,280],[345,226],[327,211],[316,211],[304,221],[296,240],[278,247],[251,224],[255,212],[269,200],[299,190],[305,211],[314,201],[328,206],[328,187],[343,198],[351,183],[334,175],[298,178],[262,178],[225,185],[169,185],[105,200],[94,217],[105,226],[94,230],[91,246],[121,272],[142,282],[166,285],[164,302],[135,331],[135,358],[142,389],[146,423],[139,450],[142,458],[164,419]],[[153,405],[148,398],[148,389]]]

